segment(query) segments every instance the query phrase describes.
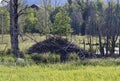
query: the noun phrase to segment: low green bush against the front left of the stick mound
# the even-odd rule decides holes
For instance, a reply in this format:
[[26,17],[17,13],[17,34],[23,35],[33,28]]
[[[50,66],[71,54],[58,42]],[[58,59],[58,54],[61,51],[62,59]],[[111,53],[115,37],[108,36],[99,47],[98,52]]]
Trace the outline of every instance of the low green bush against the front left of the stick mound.
[[57,63],[60,62],[60,56],[47,53],[47,54],[33,54],[31,58],[37,63]]

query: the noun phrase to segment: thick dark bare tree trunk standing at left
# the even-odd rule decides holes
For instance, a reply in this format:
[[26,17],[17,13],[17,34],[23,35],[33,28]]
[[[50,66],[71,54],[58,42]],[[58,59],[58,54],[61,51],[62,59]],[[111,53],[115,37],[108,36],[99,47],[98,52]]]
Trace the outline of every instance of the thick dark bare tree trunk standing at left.
[[16,57],[19,57],[18,47],[18,0],[10,0],[10,37],[11,48]]

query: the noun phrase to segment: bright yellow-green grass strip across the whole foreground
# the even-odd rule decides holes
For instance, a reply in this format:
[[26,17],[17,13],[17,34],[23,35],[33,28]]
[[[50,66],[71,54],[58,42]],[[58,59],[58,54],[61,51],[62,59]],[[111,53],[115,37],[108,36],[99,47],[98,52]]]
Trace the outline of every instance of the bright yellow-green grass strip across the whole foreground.
[[0,81],[120,81],[119,66],[0,66]]

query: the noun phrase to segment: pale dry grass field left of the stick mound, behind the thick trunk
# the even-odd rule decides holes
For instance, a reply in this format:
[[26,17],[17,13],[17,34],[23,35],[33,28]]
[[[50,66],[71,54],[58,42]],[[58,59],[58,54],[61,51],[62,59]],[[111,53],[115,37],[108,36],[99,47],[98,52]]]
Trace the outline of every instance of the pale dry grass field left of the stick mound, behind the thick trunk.
[[[45,39],[45,36],[40,36],[37,34],[29,34],[29,36],[35,40],[39,41],[43,41]],[[1,37],[1,35],[0,35]],[[33,44],[35,44],[36,42],[34,42],[33,40],[31,40],[29,37],[27,36],[23,36],[23,39],[25,41],[22,40],[21,37],[19,37],[19,48],[21,51],[26,51],[30,46],[32,46]],[[10,35],[4,35],[4,43],[7,43],[7,49],[10,49]],[[0,51],[3,51],[5,48],[6,44],[1,44],[1,40],[0,40]],[[6,50],[7,50],[6,49]]]

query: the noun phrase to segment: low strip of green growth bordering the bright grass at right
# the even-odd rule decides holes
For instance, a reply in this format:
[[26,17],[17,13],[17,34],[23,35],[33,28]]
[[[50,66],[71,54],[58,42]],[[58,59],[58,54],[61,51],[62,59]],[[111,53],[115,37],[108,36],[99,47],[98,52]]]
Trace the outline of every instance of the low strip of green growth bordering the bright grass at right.
[[75,62],[75,65],[83,65],[83,66],[119,66],[120,59],[113,58],[101,58],[101,59],[86,59],[80,60],[79,62]]

